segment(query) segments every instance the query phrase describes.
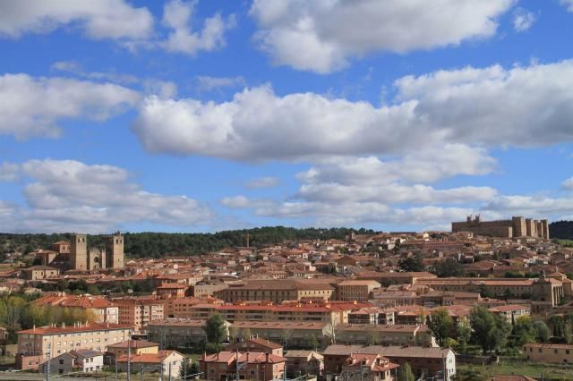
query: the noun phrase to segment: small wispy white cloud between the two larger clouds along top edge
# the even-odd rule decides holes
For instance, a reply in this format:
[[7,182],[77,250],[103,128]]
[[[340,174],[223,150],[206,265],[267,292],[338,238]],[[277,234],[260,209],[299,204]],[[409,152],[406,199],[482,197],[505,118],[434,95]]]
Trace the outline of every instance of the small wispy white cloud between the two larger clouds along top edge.
[[192,31],[192,14],[196,1],[170,0],[164,7],[163,25],[173,30],[161,45],[169,52],[196,55],[225,47],[225,32],[235,27],[235,16],[227,20],[220,13],[205,19],[202,30]]

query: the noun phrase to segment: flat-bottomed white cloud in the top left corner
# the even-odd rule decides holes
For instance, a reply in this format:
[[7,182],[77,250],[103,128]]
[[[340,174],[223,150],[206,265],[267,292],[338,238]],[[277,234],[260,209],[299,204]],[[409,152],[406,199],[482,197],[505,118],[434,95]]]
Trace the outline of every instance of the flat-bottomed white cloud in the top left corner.
[[134,8],[124,0],[0,2],[0,36],[18,38],[64,25],[77,25],[93,39],[141,39],[153,30],[153,17],[147,8]]

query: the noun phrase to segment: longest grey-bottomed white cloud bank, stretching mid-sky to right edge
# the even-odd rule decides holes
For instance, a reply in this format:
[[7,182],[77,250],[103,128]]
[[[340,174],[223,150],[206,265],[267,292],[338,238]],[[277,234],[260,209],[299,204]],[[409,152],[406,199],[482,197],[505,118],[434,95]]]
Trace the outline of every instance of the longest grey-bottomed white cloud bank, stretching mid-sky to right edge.
[[466,67],[395,82],[390,106],[269,86],[215,103],[147,97],[133,131],[151,152],[234,160],[388,157],[460,143],[539,147],[573,140],[573,61]]

